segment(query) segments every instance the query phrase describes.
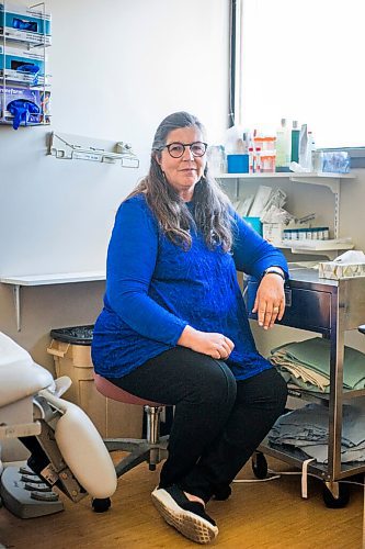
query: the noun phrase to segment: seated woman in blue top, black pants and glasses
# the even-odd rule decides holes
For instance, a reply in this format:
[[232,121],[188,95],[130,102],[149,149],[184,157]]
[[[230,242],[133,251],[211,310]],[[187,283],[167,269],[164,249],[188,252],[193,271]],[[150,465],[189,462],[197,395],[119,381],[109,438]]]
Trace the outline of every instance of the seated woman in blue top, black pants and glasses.
[[139,397],[175,405],[152,492],[163,518],[207,544],[205,511],[283,413],[286,385],[259,355],[237,270],[261,279],[267,329],[285,309],[286,261],[233,211],[209,176],[205,131],[176,112],[157,128],[148,176],[122,203],[107,254],[95,371]]

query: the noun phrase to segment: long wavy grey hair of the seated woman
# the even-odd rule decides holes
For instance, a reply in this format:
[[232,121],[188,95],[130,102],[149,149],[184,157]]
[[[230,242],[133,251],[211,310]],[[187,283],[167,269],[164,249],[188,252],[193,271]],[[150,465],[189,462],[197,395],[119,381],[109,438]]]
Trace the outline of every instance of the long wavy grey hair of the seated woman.
[[170,132],[189,126],[196,126],[205,135],[202,123],[187,112],[175,112],[162,120],[155,134],[149,172],[129,197],[141,192],[146,194],[147,203],[155,213],[160,227],[178,246],[184,249],[191,247],[192,237],[189,229],[195,226],[202,232],[210,249],[221,245],[223,249],[228,251],[232,245],[229,200],[209,176],[208,167],[205,167],[204,175],[195,186],[194,221],[185,202],[167,182],[157,161],[161,158],[161,149],[167,144]]

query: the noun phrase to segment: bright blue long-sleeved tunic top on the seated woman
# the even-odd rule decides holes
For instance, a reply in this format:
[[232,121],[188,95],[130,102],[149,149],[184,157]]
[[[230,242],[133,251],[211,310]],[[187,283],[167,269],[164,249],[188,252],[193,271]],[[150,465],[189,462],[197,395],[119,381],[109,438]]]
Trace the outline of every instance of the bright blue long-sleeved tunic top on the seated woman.
[[236,379],[271,368],[259,355],[237,270],[260,278],[270,266],[287,272],[284,256],[235,212],[233,246],[209,249],[191,229],[186,251],[159,228],[145,195],[122,203],[107,251],[104,309],[93,334],[95,371],[119,378],[176,346],[189,324],[235,343],[226,360]]

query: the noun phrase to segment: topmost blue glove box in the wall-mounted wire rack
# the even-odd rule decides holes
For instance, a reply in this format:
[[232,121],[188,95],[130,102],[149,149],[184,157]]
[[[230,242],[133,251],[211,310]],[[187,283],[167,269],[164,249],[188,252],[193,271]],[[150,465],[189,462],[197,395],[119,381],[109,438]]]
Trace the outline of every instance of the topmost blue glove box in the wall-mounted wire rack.
[[0,3],[0,33],[7,40],[31,44],[52,44],[52,18],[36,8],[26,8],[8,2]]

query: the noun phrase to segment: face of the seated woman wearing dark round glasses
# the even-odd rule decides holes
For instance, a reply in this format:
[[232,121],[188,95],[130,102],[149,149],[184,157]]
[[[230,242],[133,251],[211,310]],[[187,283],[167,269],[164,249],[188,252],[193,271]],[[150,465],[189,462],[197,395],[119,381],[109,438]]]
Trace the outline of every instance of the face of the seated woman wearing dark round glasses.
[[[196,126],[179,127],[169,133],[166,144],[190,144],[204,142],[202,132]],[[193,156],[191,148],[185,147],[180,158],[173,158],[167,148],[163,148],[161,158],[157,158],[167,181],[174,188],[179,195],[189,202],[194,194],[194,188],[204,173],[206,155]]]

